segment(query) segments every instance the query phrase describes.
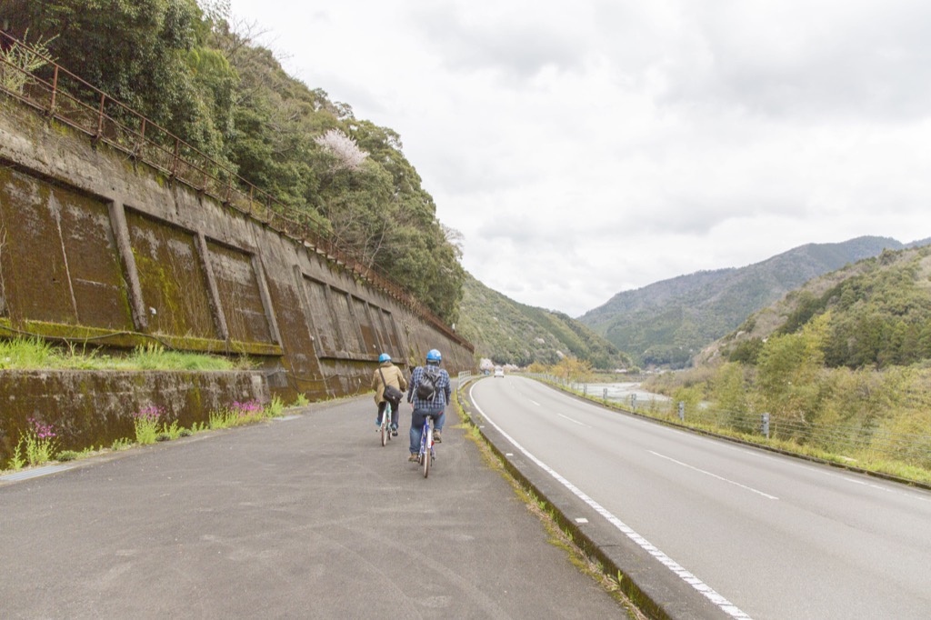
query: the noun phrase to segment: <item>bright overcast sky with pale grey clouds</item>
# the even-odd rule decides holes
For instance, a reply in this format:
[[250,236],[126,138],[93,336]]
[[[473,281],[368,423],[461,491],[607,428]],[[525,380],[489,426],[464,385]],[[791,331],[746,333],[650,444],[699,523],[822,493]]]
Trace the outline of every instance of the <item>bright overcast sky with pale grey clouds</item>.
[[577,317],[806,243],[931,236],[926,0],[231,0],[404,154],[463,264]]

